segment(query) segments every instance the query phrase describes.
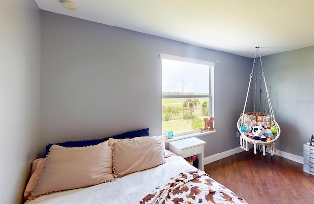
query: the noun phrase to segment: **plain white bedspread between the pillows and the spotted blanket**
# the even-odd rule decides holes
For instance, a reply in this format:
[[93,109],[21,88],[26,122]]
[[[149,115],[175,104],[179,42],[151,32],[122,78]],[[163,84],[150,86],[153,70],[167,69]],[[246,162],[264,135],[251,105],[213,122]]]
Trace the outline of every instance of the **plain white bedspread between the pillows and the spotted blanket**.
[[26,204],[138,204],[164,181],[195,169],[180,156],[165,159],[163,165],[135,172],[113,182],[44,195]]

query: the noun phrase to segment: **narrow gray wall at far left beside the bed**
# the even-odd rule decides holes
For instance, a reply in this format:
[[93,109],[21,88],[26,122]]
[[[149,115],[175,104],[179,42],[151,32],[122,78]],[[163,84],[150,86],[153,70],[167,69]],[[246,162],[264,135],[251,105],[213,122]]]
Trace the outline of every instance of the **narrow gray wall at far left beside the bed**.
[[40,10],[0,1],[0,203],[21,203],[40,131]]

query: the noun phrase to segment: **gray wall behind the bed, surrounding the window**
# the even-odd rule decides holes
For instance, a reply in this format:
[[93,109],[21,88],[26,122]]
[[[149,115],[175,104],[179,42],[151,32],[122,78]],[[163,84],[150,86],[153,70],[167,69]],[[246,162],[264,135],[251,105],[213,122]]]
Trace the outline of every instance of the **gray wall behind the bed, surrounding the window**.
[[149,128],[161,135],[158,53],[216,62],[215,128],[204,156],[239,146],[252,59],[42,11],[41,153],[48,143]]

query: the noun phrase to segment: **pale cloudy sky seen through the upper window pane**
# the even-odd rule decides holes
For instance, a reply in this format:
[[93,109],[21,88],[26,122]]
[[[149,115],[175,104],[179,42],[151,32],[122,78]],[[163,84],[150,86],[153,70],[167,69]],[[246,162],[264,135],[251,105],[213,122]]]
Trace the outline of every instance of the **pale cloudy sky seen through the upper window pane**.
[[162,59],[162,92],[182,91],[209,93],[209,66]]

